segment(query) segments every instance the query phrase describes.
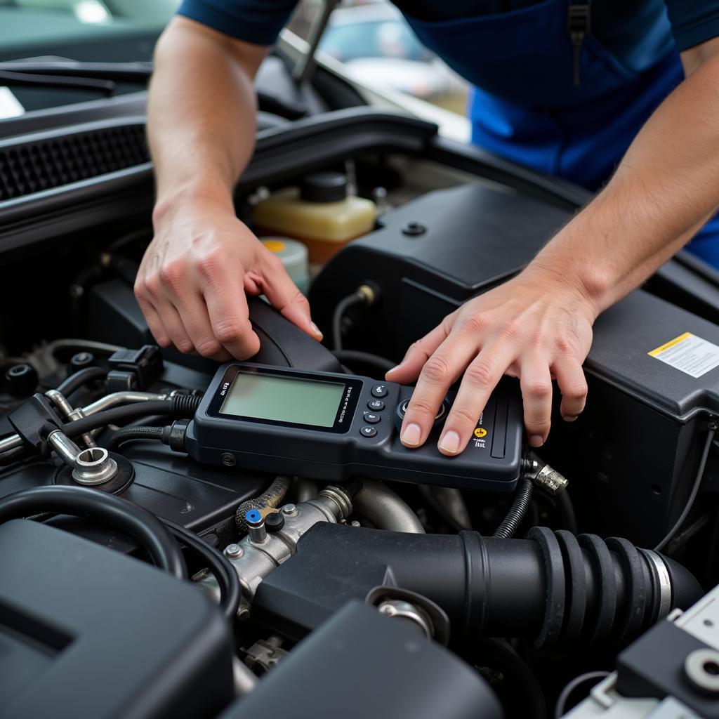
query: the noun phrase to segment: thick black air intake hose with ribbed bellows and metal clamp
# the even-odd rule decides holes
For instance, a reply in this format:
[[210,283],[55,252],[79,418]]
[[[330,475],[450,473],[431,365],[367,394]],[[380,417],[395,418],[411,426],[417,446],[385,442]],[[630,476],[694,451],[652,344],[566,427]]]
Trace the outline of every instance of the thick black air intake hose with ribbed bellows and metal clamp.
[[342,605],[386,577],[439,604],[454,638],[523,636],[541,647],[622,646],[703,594],[687,569],[626,539],[543,527],[497,539],[323,523],[262,582],[255,604],[272,603],[276,590],[306,605],[327,608],[327,597]]

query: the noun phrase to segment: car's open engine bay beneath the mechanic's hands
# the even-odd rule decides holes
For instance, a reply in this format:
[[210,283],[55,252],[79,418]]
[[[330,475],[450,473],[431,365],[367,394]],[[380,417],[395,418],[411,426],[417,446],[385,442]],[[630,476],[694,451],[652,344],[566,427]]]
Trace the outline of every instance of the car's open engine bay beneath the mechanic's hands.
[[[88,147],[137,124],[95,122]],[[3,173],[71,154],[72,136],[2,140]],[[586,411],[541,450],[507,379],[467,450],[486,461],[450,472],[388,449],[411,388],[384,372],[586,196],[429,124],[339,109],[260,132],[239,218],[257,229],[262,201],[316,173],[344,176],[376,219],[308,265],[324,344],[251,298],[261,349],[240,370],[344,388],[313,434],[318,387],[279,421],[233,410],[230,432],[224,395],[208,403],[234,375],[155,347],[132,290],[147,162],[0,195],[0,715],[649,717],[677,697],[715,715],[717,689],[694,681],[719,666],[715,273],[680,253],[600,316]],[[667,354],[687,334],[698,354]],[[335,457],[343,412],[345,444],[384,454]],[[708,659],[664,681],[687,637]],[[580,702],[586,672],[607,677],[605,703]]]

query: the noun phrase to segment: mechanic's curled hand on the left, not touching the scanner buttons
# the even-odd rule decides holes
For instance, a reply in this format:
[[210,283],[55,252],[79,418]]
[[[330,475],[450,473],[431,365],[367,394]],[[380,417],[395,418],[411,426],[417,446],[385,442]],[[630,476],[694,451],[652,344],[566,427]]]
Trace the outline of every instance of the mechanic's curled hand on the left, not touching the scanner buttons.
[[183,206],[155,221],[135,296],[160,347],[224,362],[260,349],[247,300],[265,294],[308,335],[322,339],[307,300],[282,262],[226,209]]

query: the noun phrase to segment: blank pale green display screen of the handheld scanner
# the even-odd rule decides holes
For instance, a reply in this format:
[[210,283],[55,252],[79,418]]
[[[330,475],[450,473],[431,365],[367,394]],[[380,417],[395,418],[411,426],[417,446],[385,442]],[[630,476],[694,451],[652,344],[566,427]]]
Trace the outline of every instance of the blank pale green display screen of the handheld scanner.
[[238,372],[220,413],[331,427],[343,394],[344,383]]

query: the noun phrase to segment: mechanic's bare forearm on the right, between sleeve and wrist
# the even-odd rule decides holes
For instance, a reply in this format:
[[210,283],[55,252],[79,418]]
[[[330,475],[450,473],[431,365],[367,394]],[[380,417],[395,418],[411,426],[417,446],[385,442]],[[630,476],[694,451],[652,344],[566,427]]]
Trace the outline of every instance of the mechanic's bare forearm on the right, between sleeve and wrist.
[[597,313],[666,262],[719,206],[719,57],[657,109],[608,186],[528,270],[574,283]]

